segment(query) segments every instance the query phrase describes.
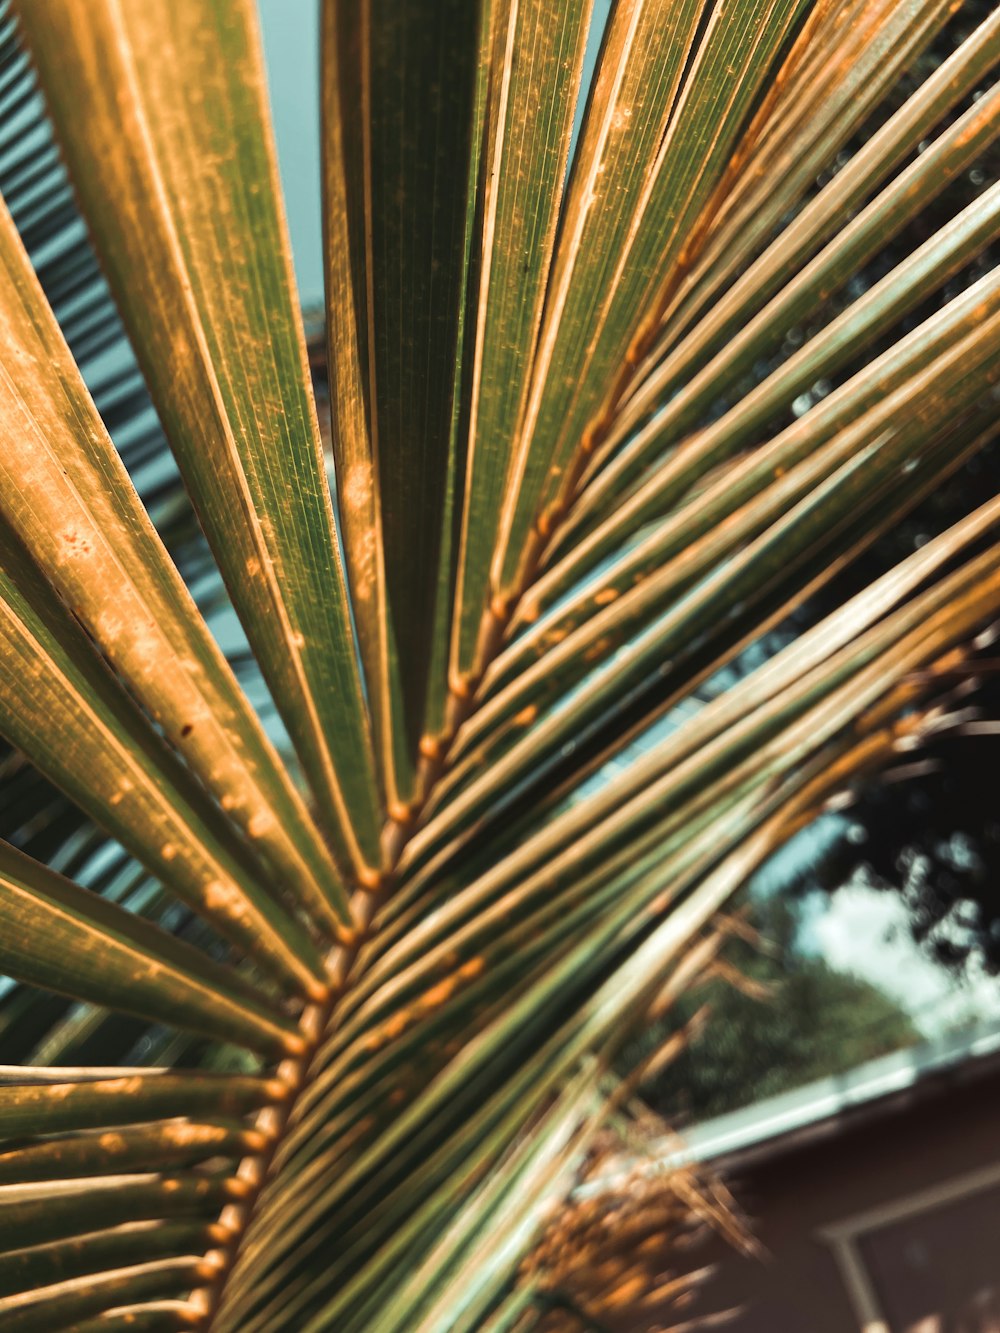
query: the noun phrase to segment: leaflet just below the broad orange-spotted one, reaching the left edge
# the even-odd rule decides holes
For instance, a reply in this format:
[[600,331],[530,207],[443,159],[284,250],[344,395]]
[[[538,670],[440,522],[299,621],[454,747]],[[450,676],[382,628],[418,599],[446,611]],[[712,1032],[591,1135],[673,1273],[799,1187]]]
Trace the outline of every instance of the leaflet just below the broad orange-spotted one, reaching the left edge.
[[325,994],[305,928],[1,525],[0,733],[293,994]]

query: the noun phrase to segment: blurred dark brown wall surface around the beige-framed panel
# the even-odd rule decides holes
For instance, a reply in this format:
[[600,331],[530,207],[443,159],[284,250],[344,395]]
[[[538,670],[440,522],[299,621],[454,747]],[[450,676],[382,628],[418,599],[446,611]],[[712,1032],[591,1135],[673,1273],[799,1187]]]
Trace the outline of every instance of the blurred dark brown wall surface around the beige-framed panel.
[[[727,1333],[857,1333],[859,1324],[839,1274],[833,1253],[817,1234],[824,1226],[856,1213],[892,1204],[908,1194],[943,1185],[1000,1161],[1000,1076],[976,1082],[964,1080],[932,1094],[917,1105],[896,1108],[865,1122],[845,1120],[841,1130],[825,1141],[784,1152],[757,1162],[736,1164],[729,1185],[749,1216],[768,1258],[744,1258],[712,1242],[693,1256],[692,1269],[716,1265],[683,1313],[653,1312],[632,1329],[660,1326]],[[947,1293],[947,1282],[929,1281],[920,1294],[919,1282],[904,1273],[905,1300],[895,1300],[892,1333],[1000,1333],[996,1301],[1000,1298],[1000,1193],[991,1190],[968,1208],[949,1205],[949,1216],[928,1214],[927,1228],[909,1228],[885,1236],[869,1253],[872,1266],[919,1266],[919,1250],[937,1249],[944,1266],[957,1270],[957,1261],[944,1254],[943,1241],[955,1240],[968,1277],[953,1277],[952,1288],[977,1284],[977,1290]],[[937,1233],[935,1233],[935,1226]],[[917,1232],[925,1230],[919,1236]],[[985,1290],[996,1278],[996,1289]],[[931,1289],[937,1296],[931,1296]],[[921,1305],[945,1290],[951,1310],[921,1310]],[[881,1293],[880,1293],[881,1294]],[[888,1293],[885,1293],[888,1294]],[[975,1298],[975,1300],[973,1300]],[[969,1302],[981,1318],[969,1316]],[[959,1313],[959,1305],[965,1312]],[[887,1310],[891,1302],[885,1301]],[[988,1313],[992,1308],[992,1313]],[[939,1317],[920,1324],[935,1313]]]

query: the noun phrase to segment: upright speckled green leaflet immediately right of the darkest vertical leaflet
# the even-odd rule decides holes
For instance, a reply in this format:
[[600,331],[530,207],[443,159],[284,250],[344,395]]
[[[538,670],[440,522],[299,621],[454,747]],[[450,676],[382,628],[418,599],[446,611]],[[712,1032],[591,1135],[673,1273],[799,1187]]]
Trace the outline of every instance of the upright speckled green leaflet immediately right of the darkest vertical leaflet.
[[516,484],[513,437],[549,283],[591,11],[592,0],[491,5],[468,457],[449,668],[451,686],[461,698],[483,669],[496,628],[489,567],[505,497]]

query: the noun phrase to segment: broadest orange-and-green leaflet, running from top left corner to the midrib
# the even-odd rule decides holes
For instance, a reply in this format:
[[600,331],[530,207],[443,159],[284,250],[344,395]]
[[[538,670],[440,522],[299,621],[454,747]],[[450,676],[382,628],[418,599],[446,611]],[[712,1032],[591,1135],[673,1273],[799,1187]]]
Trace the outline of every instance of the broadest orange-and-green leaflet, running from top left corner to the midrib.
[[381,810],[248,3],[21,25],[143,373],[339,860]]

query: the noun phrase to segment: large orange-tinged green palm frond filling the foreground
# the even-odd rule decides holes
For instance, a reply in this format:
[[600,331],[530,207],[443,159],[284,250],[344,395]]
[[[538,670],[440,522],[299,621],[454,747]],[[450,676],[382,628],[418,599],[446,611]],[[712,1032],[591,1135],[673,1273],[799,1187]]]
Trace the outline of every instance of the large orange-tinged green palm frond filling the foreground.
[[996,499],[857,584],[996,437],[951,8],[328,0],[335,505],[248,0],[0,20],[4,1328],[532,1326],[629,1032],[993,633]]

